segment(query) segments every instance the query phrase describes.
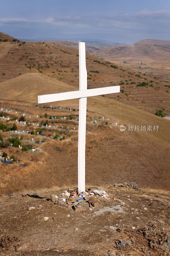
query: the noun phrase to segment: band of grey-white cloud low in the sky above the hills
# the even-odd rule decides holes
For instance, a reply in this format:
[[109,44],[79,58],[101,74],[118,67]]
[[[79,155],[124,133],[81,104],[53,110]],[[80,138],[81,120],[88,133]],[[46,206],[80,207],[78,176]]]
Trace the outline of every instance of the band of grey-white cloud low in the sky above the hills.
[[[1,18],[0,27],[4,31],[16,31],[18,34],[33,33],[35,36],[58,37],[76,35],[79,37],[102,38],[131,43],[141,38],[160,38],[169,40],[170,11],[141,10],[136,13],[124,15],[91,15],[91,16],[57,16],[45,17],[41,20],[28,20],[24,18]],[[20,32],[21,31],[21,32]],[[19,36],[18,36],[19,38]],[[23,36],[20,36],[23,38]]]

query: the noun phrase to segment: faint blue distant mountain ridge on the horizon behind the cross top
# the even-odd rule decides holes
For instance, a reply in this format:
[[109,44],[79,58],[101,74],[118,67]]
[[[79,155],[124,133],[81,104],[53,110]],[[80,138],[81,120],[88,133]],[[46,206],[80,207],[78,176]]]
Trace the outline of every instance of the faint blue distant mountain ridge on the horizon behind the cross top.
[[[20,40],[21,41],[41,41],[41,42],[48,42],[48,43],[53,43],[54,42],[55,44],[61,44],[62,43],[63,45],[66,45],[67,41],[68,42],[76,42],[76,43],[81,41],[81,42],[85,42],[86,45],[100,46],[100,47],[125,45],[123,43],[115,43],[115,42],[109,42],[109,41],[102,40],[102,39],[89,39],[89,38],[62,38],[62,39],[57,39],[57,38],[45,37],[45,38],[20,39]],[[72,47],[74,47],[74,46],[72,46]]]

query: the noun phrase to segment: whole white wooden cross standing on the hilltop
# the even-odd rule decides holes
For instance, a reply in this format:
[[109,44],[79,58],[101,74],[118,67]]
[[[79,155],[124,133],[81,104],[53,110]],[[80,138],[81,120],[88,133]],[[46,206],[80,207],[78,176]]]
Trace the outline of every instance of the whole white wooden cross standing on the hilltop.
[[38,96],[38,103],[79,98],[78,124],[78,191],[85,191],[85,132],[87,97],[120,92],[120,86],[109,86],[87,90],[87,71],[85,65],[85,43],[79,43],[79,91],[61,92]]

